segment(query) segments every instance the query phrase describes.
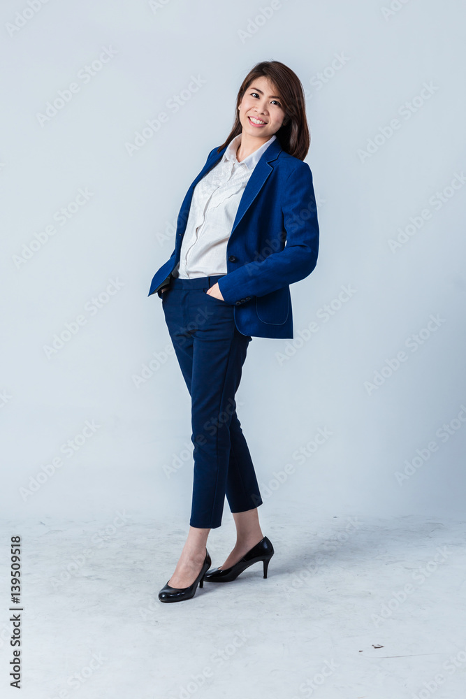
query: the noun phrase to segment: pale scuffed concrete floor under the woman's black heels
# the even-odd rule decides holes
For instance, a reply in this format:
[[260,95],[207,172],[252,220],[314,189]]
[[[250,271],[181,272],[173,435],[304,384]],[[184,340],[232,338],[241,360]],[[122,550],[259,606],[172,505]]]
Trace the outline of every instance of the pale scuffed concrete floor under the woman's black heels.
[[[264,513],[265,514],[265,513]],[[185,524],[136,513],[3,522],[23,553],[22,696],[29,699],[460,699],[465,523],[261,514],[275,547],[234,582],[163,605]],[[212,565],[233,545],[210,535]],[[4,544],[5,545],[5,544]],[[3,559],[4,560],[4,559]],[[9,569],[1,589],[8,595]],[[11,659],[0,624],[2,696]]]

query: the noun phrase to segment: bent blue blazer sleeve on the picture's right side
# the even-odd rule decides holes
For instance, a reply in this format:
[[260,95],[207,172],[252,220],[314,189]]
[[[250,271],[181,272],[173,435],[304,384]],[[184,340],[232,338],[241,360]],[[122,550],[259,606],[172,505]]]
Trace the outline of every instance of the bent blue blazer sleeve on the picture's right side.
[[249,262],[219,279],[227,303],[245,296],[264,296],[304,279],[314,270],[319,254],[319,223],[310,166],[300,161],[284,184],[282,196],[286,245],[260,261]]

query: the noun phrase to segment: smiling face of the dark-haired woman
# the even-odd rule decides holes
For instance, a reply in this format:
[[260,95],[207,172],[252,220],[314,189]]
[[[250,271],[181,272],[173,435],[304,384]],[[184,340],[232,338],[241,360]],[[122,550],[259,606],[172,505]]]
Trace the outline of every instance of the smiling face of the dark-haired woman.
[[272,82],[261,76],[247,88],[240,106],[243,134],[268,140],[283,124],[285,111],[282,99]]

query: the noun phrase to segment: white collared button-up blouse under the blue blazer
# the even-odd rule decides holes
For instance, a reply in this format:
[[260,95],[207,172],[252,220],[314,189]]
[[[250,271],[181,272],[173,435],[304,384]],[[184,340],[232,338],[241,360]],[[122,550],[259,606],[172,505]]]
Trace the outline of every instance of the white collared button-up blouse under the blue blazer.
[[173,277],[192,279],[227,273],[226,245],[240,199],[263,152],[277,138],[274,134],[239,163],[236,151],[241,135],[231,140],[219,163],[194,187],[180,261],[172,271]]

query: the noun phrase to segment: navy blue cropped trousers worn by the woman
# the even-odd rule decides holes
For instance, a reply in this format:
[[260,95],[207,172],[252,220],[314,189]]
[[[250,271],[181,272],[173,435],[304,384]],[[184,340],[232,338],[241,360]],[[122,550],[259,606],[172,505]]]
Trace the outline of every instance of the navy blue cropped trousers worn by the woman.
[[221,526],[225,496],[231,512],[262,504],[235,403],[252,337],[236,328],[231,303],[206,293],[222,276],[172,278],[161,295],[191,396],[194,479],[189,524],[212,529]]

